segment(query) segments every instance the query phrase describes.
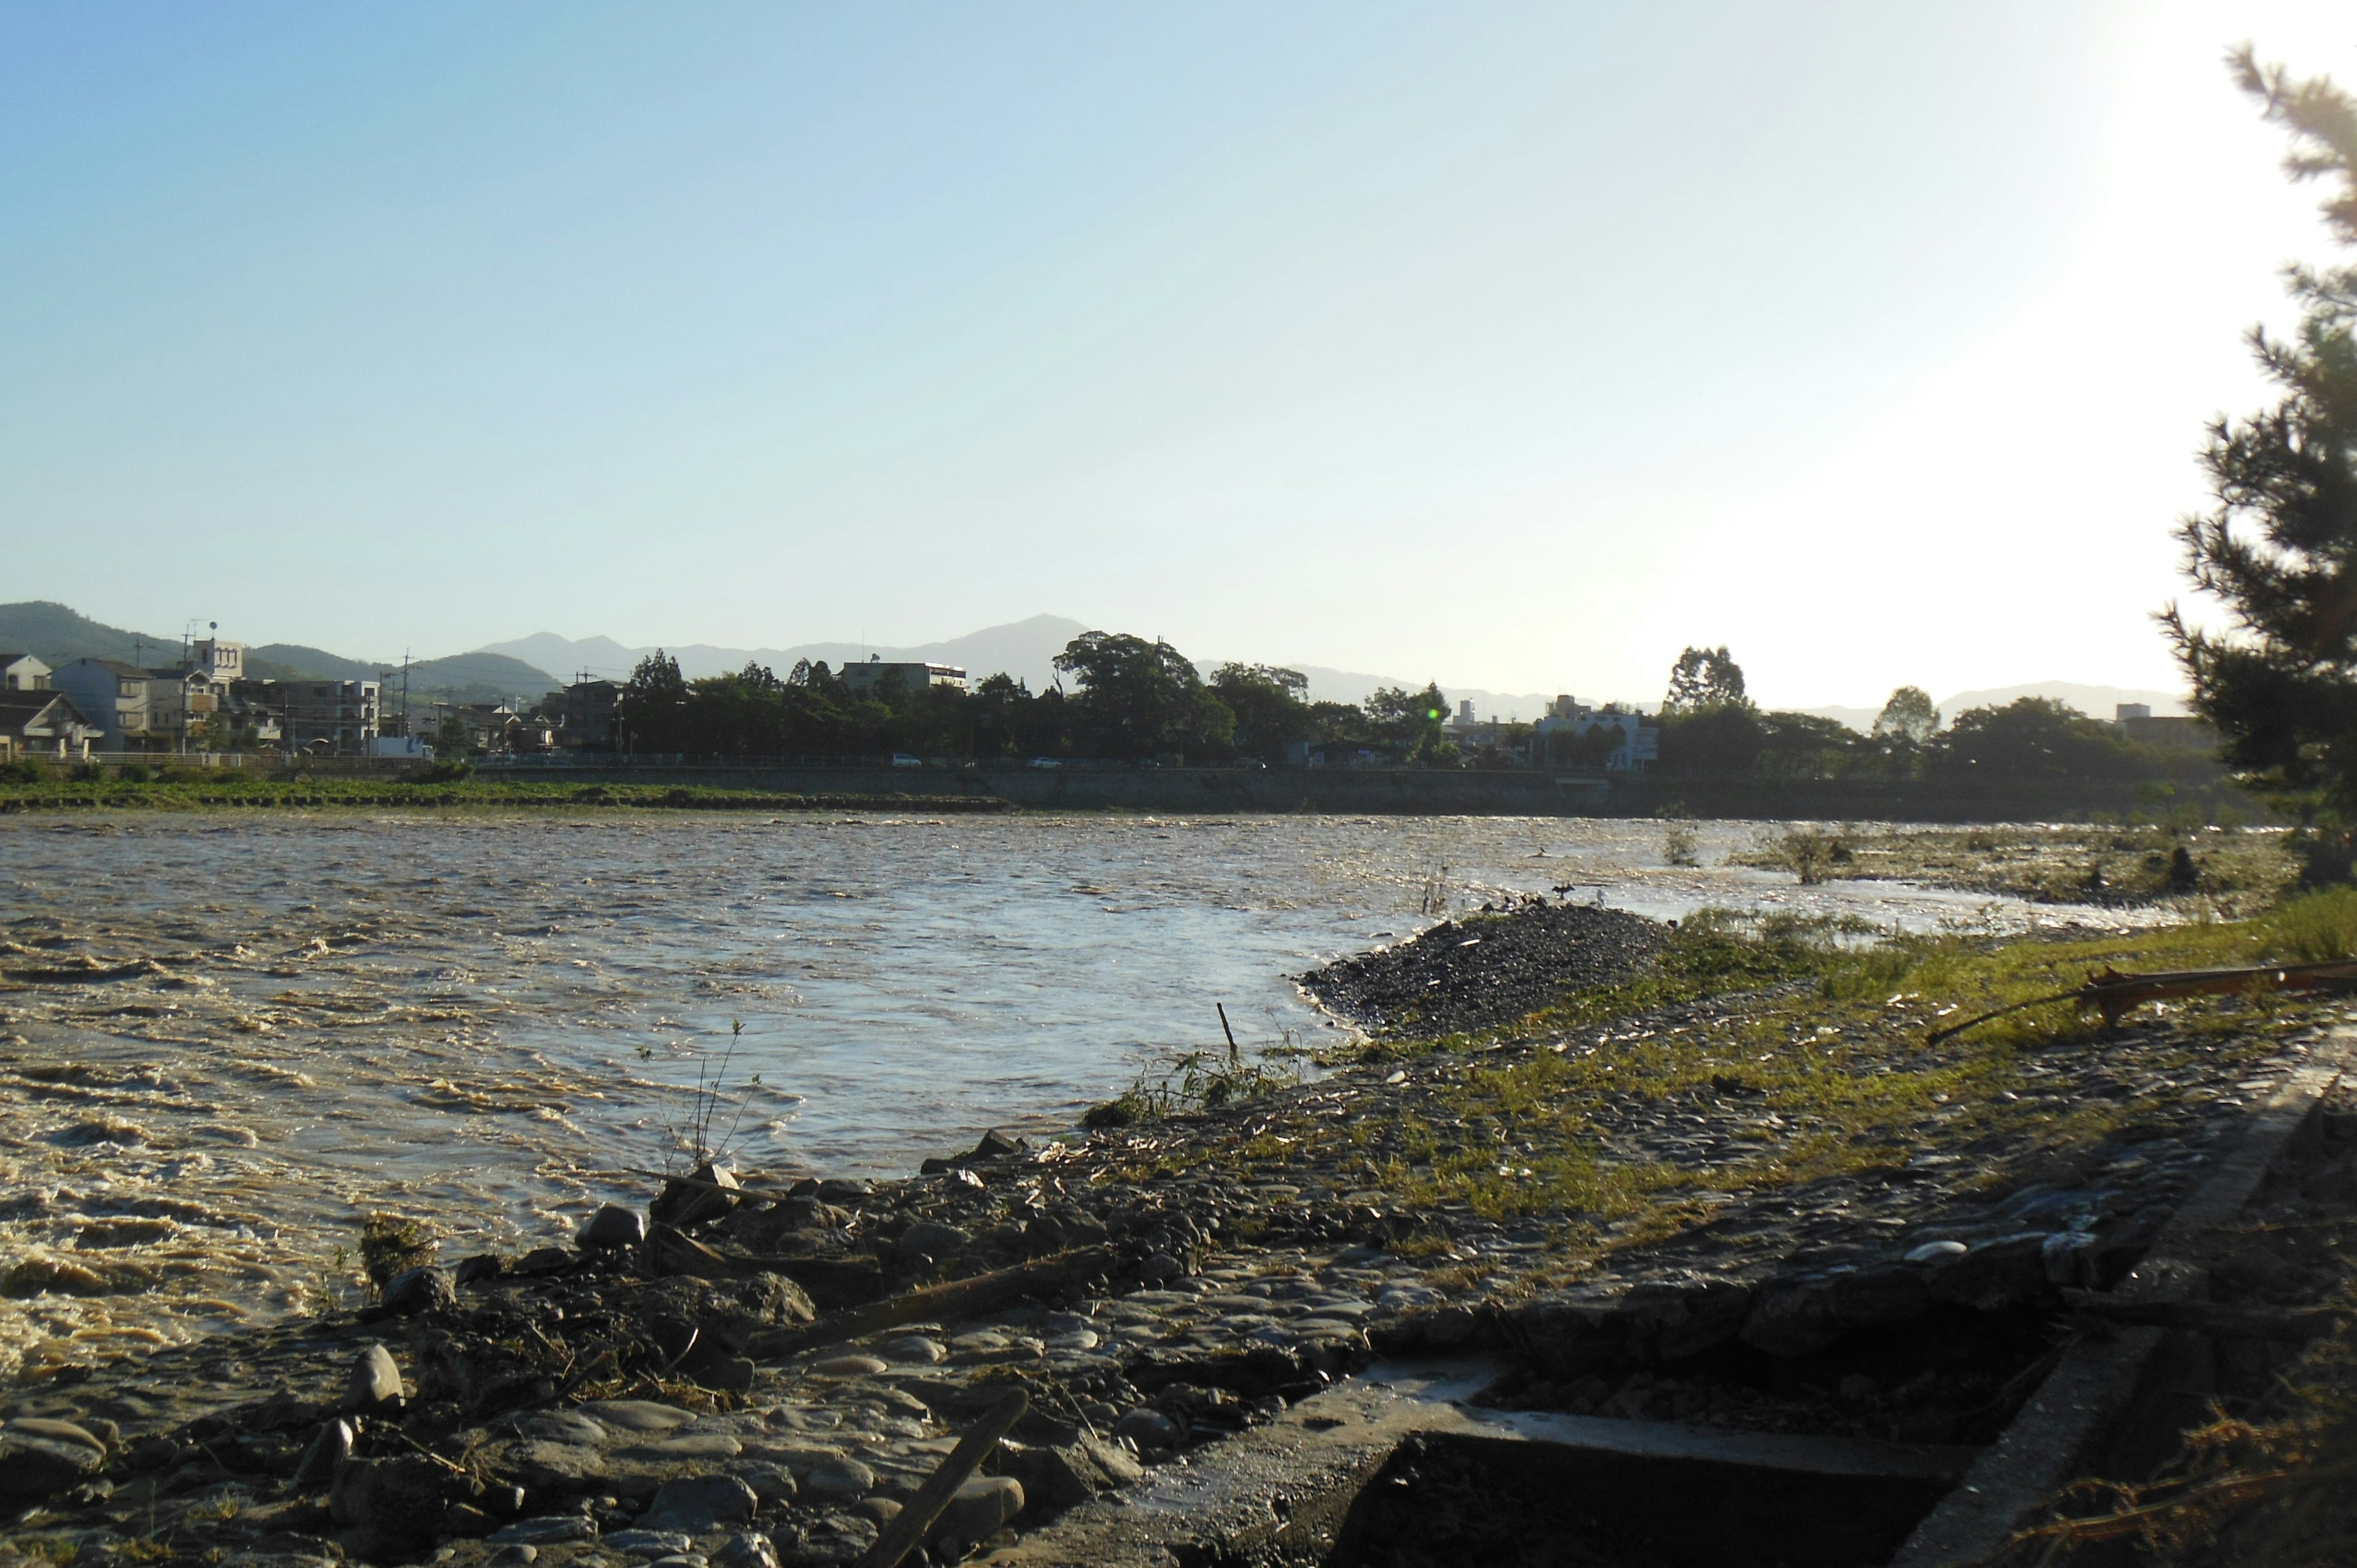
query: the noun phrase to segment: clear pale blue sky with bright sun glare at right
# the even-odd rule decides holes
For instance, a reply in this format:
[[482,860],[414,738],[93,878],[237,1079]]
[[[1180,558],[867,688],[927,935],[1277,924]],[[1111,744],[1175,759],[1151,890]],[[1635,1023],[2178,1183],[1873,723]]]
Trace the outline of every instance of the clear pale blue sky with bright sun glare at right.
[[0,599],[2168,684],[2345,5],[5,5]]

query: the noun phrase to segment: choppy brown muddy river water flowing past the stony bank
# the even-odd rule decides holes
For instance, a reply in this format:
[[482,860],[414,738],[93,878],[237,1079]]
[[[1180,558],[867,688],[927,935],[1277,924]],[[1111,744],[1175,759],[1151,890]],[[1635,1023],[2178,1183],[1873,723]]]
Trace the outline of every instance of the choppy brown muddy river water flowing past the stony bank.
[[[445,1257],[643,1195],[695,1085],[740,1162],[900,1172],[1174,1052],[1332,1040],[1292,974],[1508,891],[2086,920],[1563,818],[0,818],[0,1372],[304,1311],[356,1219]],[[1442,875],[1445,872],[1445,875]],[[740,1033],[738,1033],[740,1030]]]

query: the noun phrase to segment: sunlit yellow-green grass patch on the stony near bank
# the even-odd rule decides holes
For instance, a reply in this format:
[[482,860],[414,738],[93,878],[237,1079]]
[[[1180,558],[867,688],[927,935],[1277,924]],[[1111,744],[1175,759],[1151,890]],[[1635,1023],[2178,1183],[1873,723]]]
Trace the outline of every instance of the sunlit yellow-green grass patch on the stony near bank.
[[[2256,920],[2069,941],[1853,938],[1789,917],[1697,917],[1640,976],[1516,1026],[1360,1047],[1374,1073],[1402,1068],[1407,1082],[1388,1101],[1341,1118],[1275,1099],[1254,1137],[1211,1148],[1188,1139],[1136,1174],[1202,1160],[1230,1165],[1242,1181],[1327,1167],[1402,1210],[1466,1205],[1490,1219],[1544,1219],[1577,1266],[1692,1224],[1714,1193],[1904,1165],[1923,1151],[2003,1144],[2067,1155],[2166,1111],[2154,1082],[2270,1056],[2319,1002],[2253,993],[2171,1002],[2166,1014],[2147,1004],[2131,1026],[2159,1014],[2171,1028],[2140,1030],[2133,1049],[2069,1004],[2011,1014],[1937,1047],[1926,1037],[2074,988],[2107,964],[2152,971],[2357,953],[2357,889]],[[2121,1056],[2131,1092],[2058,1101],[2053,1063],[2077,1056],[2084,1066],[2093,1052]],[[1671,1122],[1695,1120],[1732,1129],[1758,1153],[1709,1167],[1648,1153]],[[1961,1184],[2008,1179],[1992,1165]]]

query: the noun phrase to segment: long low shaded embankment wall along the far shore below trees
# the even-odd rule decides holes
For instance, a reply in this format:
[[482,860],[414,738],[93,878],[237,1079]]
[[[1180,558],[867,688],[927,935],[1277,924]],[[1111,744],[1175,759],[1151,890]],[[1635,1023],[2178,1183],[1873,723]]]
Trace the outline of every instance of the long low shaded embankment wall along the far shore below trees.
[[519,766],[483,778],[761,790],[773,795],[992,797],[1035,811],[1322,811],[1341,816],[1721,816],[1758,821],[2001,823],[2133,811],[2133,785],[1596,778],[1440,769],[775,769]]

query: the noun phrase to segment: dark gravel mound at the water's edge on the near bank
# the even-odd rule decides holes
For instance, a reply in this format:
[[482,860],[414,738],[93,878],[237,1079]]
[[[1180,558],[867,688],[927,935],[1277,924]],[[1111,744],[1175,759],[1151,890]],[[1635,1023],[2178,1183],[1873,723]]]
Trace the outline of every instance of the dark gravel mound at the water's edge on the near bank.
[[1626,910],[1523,905],[1310,969],[1301,988],[1376,1033],[1450,1035],[1511,1023],[1565,990],[1624,979],[1666,941],[1666,924]]

